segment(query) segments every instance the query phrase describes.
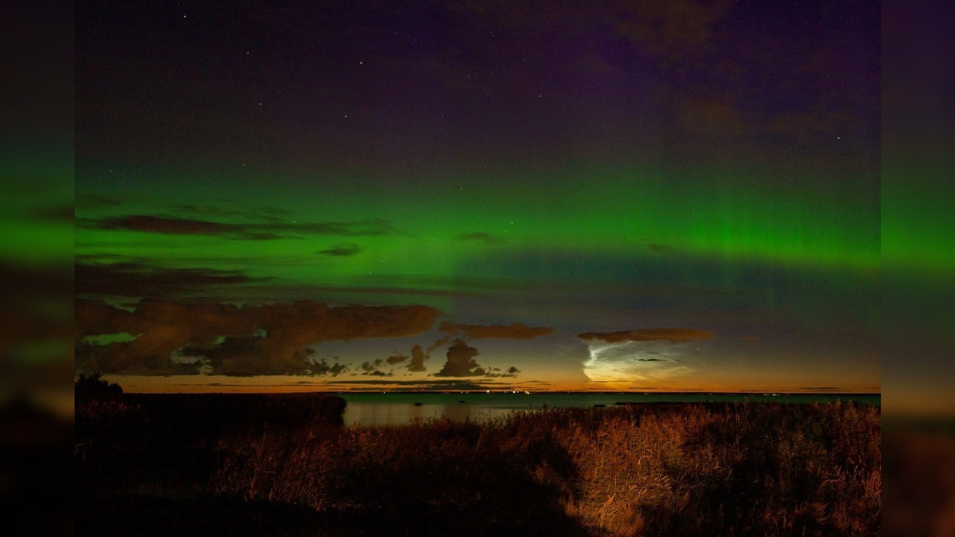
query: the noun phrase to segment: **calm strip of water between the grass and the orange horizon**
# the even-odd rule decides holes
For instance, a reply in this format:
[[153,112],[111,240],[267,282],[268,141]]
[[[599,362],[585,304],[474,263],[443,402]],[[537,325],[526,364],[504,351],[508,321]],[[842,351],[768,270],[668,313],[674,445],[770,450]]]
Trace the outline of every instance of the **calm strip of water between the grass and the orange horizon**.
[[[695,403],[753,402],[825,403],[858,401],[880,404],[879,395],[860,394],[779,394],[740,395],[703,393],[611,393],[611,394],[502,394],[502,393],[347,393],[340,394],[349,404],[345,408],[347,425],[401,425],[416,420],[448,418],[455,421],[483,421],[516,410],[540,410],[547,407],[613,406],[617,402]],[[420,404],[415,404],[420,403]]]

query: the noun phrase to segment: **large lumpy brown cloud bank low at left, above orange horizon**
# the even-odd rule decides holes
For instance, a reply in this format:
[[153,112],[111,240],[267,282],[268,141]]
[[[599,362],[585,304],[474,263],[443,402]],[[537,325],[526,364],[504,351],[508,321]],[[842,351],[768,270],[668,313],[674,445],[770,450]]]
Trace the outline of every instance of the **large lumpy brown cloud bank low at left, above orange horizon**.
[[[414,336],[430,328],[430,306],[340,306],[299,301],[237,306],[142,299],[132,311],[77,300],[76,366],[103,373],[170,374],[188,362],[233,376],[330,373],[317,365],[309,345],[320,341]],[[134,341],[90,344],[88,336],[127,333]],[[181,358],[173,354],[180,351]],[[192,359],[192,360],[190,360]],[[325,370],[326,368],[329,370]],[[337,373],[336,373],[337,374]]]

